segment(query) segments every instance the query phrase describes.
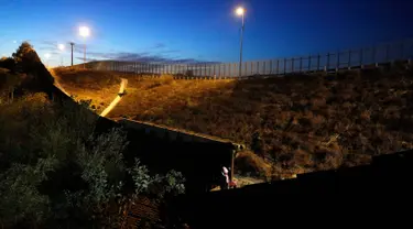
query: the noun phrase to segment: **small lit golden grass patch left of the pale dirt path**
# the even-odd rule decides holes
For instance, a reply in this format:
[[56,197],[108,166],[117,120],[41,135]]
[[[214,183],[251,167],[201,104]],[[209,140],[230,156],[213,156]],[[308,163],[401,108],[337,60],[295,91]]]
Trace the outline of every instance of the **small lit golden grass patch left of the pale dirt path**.
[[120,75],[108,72],[74,68],[54,68],[53,75],[76,100],[90,100],[100,113],[118,96]]

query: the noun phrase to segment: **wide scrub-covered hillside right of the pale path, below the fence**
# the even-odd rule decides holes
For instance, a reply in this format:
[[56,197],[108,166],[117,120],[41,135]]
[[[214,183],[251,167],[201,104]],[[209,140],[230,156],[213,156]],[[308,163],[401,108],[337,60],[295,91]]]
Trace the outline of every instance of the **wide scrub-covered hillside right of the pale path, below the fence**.
[[128,95],[109,117],[243,142],[274,162],[271,173],[352,166],[412,148],[413,74],[401,69],[249,80],[122,76]]

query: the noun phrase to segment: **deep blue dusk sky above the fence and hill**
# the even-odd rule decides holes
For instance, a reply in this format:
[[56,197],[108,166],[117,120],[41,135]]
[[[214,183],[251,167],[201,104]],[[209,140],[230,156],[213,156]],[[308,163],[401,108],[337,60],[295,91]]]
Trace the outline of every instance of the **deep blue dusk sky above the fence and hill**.
[[[0,55],[29,41],[50,64],[58,43],[77,45],[90,28],[88,58],[238,62],[246,13],[244,61],[300,56],[413,37],[409,0],[0,0]],[[79,50],[80,48],[80,50]]]

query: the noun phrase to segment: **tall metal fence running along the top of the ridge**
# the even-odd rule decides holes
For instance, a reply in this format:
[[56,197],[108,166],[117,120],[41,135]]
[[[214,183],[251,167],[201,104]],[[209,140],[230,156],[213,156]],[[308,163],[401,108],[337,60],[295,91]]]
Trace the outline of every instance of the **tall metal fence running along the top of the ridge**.
[[251,75],[284,75],[306,72],[332,72],[363,68],[387,63],[409,61],[413,57],[413,40],[379,44],[370,47],[351,48],[325,54],[289,58],[222,64],[156,64],[139,62],[101,61],[86,63],[89,69],[116,70],[135,74],[174,74],[198,77],[246,77]]

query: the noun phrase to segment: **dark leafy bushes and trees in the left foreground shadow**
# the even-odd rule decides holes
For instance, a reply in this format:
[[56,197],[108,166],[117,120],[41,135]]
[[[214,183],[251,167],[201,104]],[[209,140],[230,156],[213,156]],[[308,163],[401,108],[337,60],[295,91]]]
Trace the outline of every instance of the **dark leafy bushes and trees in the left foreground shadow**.
[[181,173],[127,163],[126,132],[97,131],[90,103],[51,100],[53,78],[29,43],[0,67],[1,228],[119,228],[140,196],[184,192]]

